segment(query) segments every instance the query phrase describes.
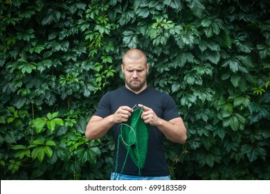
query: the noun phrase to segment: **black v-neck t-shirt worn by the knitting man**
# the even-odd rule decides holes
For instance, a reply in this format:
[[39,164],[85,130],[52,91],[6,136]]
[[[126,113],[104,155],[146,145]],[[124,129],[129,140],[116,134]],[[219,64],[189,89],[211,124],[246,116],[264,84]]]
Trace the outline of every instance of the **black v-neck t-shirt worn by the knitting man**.
[[[147,87],[141,93],[135,94],[126,87],[120,87],[114,91],[108,91],[100,100],[98,109],[94,115],[105,118],[111,114],[114,114],[120,106],[134,107],[134,105],[145,105],[154,110],[159,118],[163,118],[165,121],[170,121],[173,118],[179,117],[177,112],[177,105],[174,100],[163,92],[157,91],[152,87]],[[119,125],[119,124],[118,124]],[[117,143],[118,139],[118,125],[112,127],[112,134],[114,140]],[[143,177],[156,177],[170,175],[168,165],[166,164],[164,151],[163,151],[163,133],[154,126],[151,126],[148,146],[147,157],[145,166],[141,170],[141,176]],[[117,146],[116,146],[117,148]],[[127,150],[123,143],[120,143],[118,153],[118,169],[117,173],[120,173]],[[116,164],[116,150],[114,152],[114,166],[112,171],[115,170]],[[127,162],[123,170],[124,175],[138,175],[138,167],[134,164],[131,157],[127,157]]]

